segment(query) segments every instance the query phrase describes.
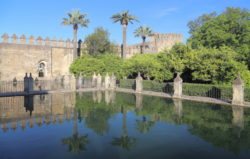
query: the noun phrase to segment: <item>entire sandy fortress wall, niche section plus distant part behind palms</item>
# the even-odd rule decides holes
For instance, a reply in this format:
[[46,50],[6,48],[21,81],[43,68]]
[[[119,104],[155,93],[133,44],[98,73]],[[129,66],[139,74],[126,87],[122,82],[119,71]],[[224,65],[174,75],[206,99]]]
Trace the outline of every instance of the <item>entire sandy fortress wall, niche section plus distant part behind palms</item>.
[[[182,42],[181,34],[155,33],[146,42],[145,53],[157,53],[170,49],[174,44]],[[126,58],[141,52],[141,45],[127,46]],[[81,44],[84,48],[84,44]],[[121,52],[120,47],[118,51]],[[71,40],[43,39],[42,37],[18,37],[16,34],[2,35],[0,40],[0,81],[13,78],[23,80],[25,73],[32,73],[39,80],[51,80],[59,76],[69,75],[69,67],[73,62],[73,42]]]

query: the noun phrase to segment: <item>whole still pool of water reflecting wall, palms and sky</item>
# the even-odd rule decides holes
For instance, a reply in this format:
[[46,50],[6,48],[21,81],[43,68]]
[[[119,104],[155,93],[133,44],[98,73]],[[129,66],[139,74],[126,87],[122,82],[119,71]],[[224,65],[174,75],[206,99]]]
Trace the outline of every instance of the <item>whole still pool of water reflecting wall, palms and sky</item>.
[[115,92],[0,98],[0,158],[249,159],[248,108]]

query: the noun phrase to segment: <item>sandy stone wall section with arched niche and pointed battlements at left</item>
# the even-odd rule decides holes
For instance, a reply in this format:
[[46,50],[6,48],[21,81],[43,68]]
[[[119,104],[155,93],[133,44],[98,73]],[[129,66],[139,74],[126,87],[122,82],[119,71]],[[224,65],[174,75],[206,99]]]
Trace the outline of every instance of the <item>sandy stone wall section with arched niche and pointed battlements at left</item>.
[[23,80],[26,72],[33,77],[50,80],[57,76],[69,75],[73,62],[73,43],[68,39],[50,40],[40,36],[26,38],[2,36],[0,41],[0,80]]

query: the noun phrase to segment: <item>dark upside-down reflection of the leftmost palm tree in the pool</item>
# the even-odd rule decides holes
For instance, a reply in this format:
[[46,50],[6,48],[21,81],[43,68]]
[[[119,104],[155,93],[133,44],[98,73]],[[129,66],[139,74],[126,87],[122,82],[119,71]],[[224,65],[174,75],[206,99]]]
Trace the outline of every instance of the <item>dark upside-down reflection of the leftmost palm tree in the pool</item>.
[[86,144],[88,144],[88,135],[79,136],[77,126],[77,110],[74,110],[74,127],[73,135],[71,137],[64,138],[62,143],[69,146],[70,152],[79,153],[86,150]]

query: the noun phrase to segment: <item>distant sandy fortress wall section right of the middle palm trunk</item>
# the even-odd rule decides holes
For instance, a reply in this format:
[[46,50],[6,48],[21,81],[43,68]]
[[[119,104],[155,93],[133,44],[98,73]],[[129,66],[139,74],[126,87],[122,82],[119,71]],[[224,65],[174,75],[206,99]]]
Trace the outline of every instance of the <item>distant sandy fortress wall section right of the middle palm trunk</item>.
[[[158,53],[164,49],[171,49],[173,45],[181,42],[183,42],[182,34],[154,33],[149,37],[149,41],[145,43],[144,53]],[[141,46],[142,43],[127,46],[126,58],[139,54],[141,52]]]

